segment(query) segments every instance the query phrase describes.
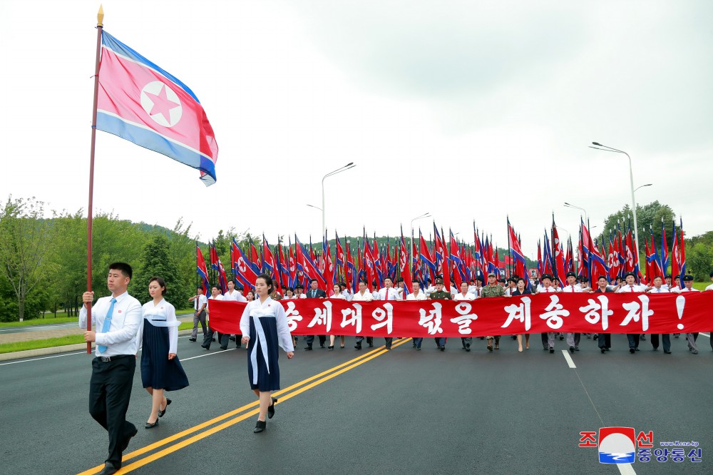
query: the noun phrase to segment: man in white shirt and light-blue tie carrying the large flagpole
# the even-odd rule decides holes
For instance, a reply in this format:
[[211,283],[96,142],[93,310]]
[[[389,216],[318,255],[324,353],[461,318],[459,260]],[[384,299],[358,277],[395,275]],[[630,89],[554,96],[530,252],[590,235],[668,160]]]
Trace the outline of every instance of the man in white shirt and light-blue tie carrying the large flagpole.
[[[109,454],[100,472],[116,473],[121,453],[138,432],[126,420],[131,386],[136,369],[136,333],[142,324],[141,304],[126,288],[133,271],[125,262],[109,265],[106,286],[111,296],[101,297],[91,307],[93,330],[84,332],[84,341],[96,342],[89,381],[89,414],[109,435]],[[84,292],[82,302],[91,305],[94,292]],[[87,310],[79,311],[79,327],[87,327]]]

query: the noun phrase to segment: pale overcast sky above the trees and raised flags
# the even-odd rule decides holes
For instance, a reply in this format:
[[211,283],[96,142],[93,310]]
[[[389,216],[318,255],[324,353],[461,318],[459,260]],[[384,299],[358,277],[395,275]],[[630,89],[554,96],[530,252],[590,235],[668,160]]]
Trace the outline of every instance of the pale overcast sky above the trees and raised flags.
[[[186,83],[220,152],[217,183],[98,132],[95,210],[202,240],[409,233],[426,212],[535,257],[554,211],[576,235],[660,200],[713,229],[711,1],[103,1],[104,27]],[[87,208],[96,11],[0,2],[0,195]],[[3,198],[4,199],[4,198]],[[268,208],[270,210],[268,210]],[[431,220],[421,220],[424,233]],[[596,233],[595,228],[594,232]],[[566,236],[566,233],[565,233]],[[576,244],[575,244],[576,245]]]

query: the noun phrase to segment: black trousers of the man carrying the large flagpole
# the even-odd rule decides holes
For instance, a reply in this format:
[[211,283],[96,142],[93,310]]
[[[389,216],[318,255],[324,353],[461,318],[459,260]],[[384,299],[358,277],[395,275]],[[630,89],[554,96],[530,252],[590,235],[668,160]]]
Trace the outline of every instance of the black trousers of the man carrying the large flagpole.
[[108,362],[95,357],[91,367],[89,414],[109,434],[109,455],[106,461],[120,467],[123,445],[136,431],[134,424],[126,421],[136,357],[129,354]]

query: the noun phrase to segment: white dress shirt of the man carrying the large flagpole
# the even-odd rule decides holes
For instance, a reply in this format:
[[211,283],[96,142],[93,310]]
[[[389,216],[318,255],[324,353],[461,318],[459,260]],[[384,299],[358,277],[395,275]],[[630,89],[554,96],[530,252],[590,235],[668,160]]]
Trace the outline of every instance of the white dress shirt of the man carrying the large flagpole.
[[[101,297],[91,307],[92,329],[96,331],[96,356],[118,356],[119,354],[136,354],[136,333],[141,321],[141,304],[134,297],[124,292],[116,297],[109,331],[103,332],[104,318],[111,305],[111,295]],[[82,305],[79,310],[79,327],[87,327],[87,310]],[[106,351],[99,352],[99,345]]]

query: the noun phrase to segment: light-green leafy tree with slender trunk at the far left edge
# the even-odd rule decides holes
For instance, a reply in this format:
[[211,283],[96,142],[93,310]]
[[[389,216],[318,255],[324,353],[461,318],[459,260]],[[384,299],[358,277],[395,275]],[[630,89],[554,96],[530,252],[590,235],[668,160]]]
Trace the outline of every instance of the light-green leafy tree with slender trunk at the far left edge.
[[[0,272],[17,300],[17,317],[24,320],[26,304],[36,302],[31,292],[51,274],[46,259],[50,224],[44,219],[44,203],[29,198],[7,202],[0,209]],[[35,313],[33,307],[31,313]],[[14,320],[14,319],[13,319]]]

